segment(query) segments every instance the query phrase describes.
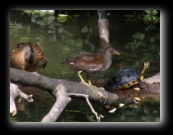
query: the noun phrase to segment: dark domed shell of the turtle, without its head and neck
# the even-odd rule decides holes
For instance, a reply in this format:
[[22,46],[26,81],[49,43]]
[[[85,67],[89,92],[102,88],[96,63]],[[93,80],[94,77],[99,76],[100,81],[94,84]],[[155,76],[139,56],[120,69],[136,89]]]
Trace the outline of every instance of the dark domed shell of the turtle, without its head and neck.
[[107,86],[111,90],[129,88],[140,82],[140,71],[133,68],[124,68],[113,73]]

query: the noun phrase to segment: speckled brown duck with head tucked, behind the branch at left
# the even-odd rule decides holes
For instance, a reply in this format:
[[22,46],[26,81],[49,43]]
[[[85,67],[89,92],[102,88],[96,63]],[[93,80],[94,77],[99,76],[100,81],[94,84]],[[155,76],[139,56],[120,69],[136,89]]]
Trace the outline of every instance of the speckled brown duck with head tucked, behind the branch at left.
[[41,73],[47,58],[36,42],[19,42],[10,51],[10,67],[27,72]]

